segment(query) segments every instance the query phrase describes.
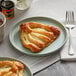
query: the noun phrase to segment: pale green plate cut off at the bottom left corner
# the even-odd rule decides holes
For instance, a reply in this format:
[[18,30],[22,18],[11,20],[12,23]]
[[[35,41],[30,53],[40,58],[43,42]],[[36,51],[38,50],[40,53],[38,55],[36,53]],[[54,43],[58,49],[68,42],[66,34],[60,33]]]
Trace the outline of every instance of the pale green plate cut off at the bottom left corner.
[[[22,61],[20,60],[17,60],[17,59],[13,59],[13,58],[8,58],[8,57],[0,57],[0,61],[4,61],[4,60],[10,60],[10,61],[19,61],[21,63],[23,63]],[[24,63],[23,63],[24,64]],[[28,68],[27,65],[24,64],[24,76],[33,76],[30,69]]]

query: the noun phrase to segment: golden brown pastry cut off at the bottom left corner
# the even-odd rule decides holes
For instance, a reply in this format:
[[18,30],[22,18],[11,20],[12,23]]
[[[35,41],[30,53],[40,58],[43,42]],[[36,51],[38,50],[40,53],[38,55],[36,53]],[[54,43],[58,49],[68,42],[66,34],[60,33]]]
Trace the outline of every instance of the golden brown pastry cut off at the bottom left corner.
[[0,61],[0,76],[24,76],[24,65],[18,61]]

